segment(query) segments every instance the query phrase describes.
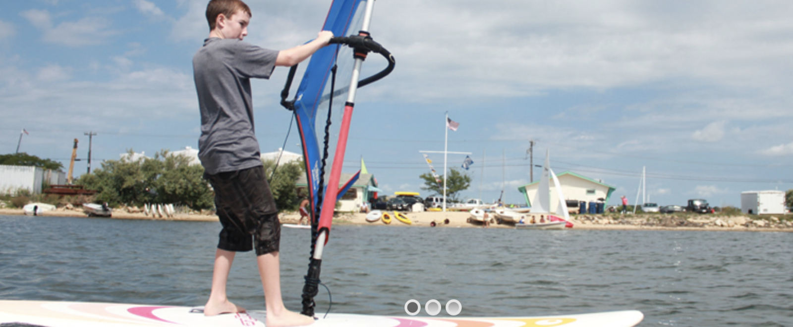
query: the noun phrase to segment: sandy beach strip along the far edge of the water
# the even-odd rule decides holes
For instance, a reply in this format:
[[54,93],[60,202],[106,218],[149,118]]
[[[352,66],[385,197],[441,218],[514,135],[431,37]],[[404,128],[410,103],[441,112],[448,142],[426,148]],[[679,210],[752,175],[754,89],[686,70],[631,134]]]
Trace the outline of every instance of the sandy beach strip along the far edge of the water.
[[[0,208],[0,215],[25,215],[22,209]],[[362,226],[396,226],[396,227],[430,227],[430,222],[435,221],[438,228],[483,228],[480,222],[467,222],[469,213],[465,211],[423,211],[406,212],[405,215],[412,220],[411,225],[393,219],[390,225],[377,222],[367,222],[366,214],[339,213],[334,216],[333,222],[337,225],[362,225]],[[58,208],[54,211],[45,211],[42,216],[54,217],[86,217],[82,209]],[[300,215],[297,212],[282,212],[279,215],[282,224],[297,224]],[[164,221],[192,221],[216,222],[214,214],[176,214],[173,217],[159,218],[145,215],[136,208],[114,209],[110,219],[142,219]],[[449,219],[448,224],[443,221]],[[576,215],[571,221],[575,226],[573,230],[708,230],[708,231],[776,231],[793,232],[793,222],[783,221],[774,216],[763,219],[752,219],[744,215],[699,215],[695,219],[686,219],[678,215]],[[491,223],[487,228],[515,228],[513,224]]]

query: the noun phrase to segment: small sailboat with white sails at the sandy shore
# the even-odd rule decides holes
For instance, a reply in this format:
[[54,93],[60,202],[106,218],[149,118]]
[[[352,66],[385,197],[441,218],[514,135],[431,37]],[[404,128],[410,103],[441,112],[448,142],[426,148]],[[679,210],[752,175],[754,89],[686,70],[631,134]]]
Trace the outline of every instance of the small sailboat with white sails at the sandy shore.
[[[550,213],[550,181],[552,179],[556,185],[556,195],[559,199],[556,215]],[[516,229],[561,230],[565,227],[573,227],[573,222],[570,222],[570,214],[567,211],[565,195],[561,192],[561,184],[554,170],[550,169],[550,150],[546,150],[546,163],[542,166],[542,178],[540,178],[537,194],[531,204],[531,220],[524,219],[523,222],[515,224]],[[540,215],[539,219],[537,215]]]

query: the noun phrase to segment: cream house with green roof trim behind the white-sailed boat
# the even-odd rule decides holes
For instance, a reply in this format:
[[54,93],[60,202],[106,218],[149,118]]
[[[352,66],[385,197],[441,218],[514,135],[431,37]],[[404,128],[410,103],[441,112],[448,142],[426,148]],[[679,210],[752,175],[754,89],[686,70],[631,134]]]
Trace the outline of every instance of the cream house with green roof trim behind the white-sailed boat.
[[[561,184],[561,192],[565,194],[565,200],[576,200],[584,202],[595,202],[603,199],[603,202],[608,203],[613,193],[617,188],[614,186],[603,184],[601,181],[593,180],[589,177],[581,176],[573,172],[564,172],[557,175],[559,184]],[[518,188],[523,193],[526,203],[531,207],[531,201],[537,195],[537,188],[539,181],[531,184],[526,184]],[[559,199],[556,195],[556,185],[554,181],[550,181],[550,212],[556,212],[559,204]]]

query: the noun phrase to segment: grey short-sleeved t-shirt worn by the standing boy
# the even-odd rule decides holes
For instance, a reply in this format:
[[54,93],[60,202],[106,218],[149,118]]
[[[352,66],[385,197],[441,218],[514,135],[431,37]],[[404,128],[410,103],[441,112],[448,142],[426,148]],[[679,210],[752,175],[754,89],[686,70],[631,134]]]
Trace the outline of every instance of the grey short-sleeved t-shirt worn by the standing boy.
[[278,51],[210,37],[193,56],[201,107],[198,158],[206,173],[262,165],[253,124],[251,79],[270,78]]

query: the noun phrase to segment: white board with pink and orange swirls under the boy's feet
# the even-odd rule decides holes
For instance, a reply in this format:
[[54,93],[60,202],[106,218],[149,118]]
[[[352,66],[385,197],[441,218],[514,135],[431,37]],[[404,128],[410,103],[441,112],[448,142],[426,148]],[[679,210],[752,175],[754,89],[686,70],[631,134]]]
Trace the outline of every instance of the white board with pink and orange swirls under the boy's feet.
[[[200,308],[200,307],[199,307]],[[205,317],[190,306],[147,306],[96,302],[0,301],[0,325],[26,327],[265,327],[266,312]],[[324,316],[324,314],[317,314]],[[537,317],[387,317],[366,314],[328,314],[312,327],[631,327],[644,315],[635,310],[597,314]]]

